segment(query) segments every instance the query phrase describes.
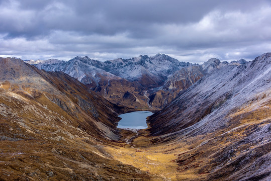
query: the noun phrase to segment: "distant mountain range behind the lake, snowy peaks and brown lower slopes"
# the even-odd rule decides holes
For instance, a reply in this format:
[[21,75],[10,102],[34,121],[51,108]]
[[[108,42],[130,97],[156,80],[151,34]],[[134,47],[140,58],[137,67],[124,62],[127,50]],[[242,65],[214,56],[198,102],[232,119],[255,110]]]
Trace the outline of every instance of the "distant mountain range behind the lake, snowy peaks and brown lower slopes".
[[69,61],[50,59],[25,62],[46,71],[67,73],[112,103],[142,110],[163,108],[180,91],[215,68],[246,63],[243,59],[231,63],[210,59],[199,65],[179,62],[165,54],[105,62],[87,56],[77,56]]

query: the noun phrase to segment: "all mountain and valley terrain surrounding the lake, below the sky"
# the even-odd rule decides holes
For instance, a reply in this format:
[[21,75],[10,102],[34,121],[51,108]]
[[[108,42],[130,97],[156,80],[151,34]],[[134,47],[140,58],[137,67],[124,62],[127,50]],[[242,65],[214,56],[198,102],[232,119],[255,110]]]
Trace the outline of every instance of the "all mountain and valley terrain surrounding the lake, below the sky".
[[[271,179],[271,53],[0,66],[0,180]],[[148,128],[118,129],[135,110]]]

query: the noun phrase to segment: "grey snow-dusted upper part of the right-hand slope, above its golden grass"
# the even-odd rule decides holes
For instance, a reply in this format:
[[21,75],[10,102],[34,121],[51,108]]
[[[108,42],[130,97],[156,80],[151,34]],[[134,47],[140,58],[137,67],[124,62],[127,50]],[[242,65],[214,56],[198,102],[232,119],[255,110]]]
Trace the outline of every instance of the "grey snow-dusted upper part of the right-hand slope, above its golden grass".
[[[207,63],[221,65],[218,59]],[[156,129],[156,134],[163,134],[163,127],[175,132],[189,126],[189,130],[201,128],[201,134],[212,132],[226,126],[229,121],[226,116],[231,111],[239,110],[259,95],[270,99],[270,87],[271,53],[262,54],[240,66],[225,64],[205,75],[156,114],[151,127]],[[163,119],[170,121],[158,122],[162,115],[167,115]]]

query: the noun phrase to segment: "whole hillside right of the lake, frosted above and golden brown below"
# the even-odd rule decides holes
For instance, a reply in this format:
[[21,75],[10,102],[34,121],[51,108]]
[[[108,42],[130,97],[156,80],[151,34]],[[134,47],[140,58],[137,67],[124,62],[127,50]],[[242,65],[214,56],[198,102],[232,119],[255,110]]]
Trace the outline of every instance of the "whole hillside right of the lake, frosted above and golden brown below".
[[214,69],[150,117],[152,142],[177,154],[179,180],[268,180],[270,87],[271,53]]

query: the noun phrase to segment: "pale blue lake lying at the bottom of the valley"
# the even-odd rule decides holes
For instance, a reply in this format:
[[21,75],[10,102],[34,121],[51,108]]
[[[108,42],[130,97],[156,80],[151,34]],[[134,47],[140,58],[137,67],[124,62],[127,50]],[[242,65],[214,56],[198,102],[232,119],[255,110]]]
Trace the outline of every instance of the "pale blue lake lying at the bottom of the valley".
[[136,111],[131,113],[121,114],[122,118],[118,124],[118,128],[145,129],[148,127],[146,118],[153,115],[149,111]]

